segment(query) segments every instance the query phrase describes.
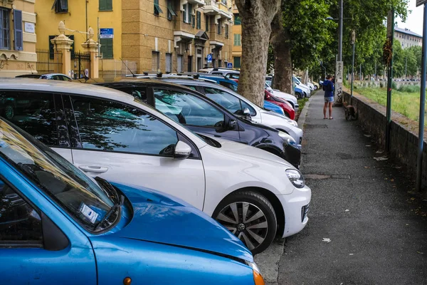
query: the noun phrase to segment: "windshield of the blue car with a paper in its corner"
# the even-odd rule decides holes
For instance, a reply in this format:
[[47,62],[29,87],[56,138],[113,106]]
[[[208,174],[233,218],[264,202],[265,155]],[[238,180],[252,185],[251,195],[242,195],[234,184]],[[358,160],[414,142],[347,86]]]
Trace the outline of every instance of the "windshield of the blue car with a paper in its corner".
[[96,229],[115,204],[108,190],[100,188],[38,140],[1,119],[0,157],[14,165],[89,231]]

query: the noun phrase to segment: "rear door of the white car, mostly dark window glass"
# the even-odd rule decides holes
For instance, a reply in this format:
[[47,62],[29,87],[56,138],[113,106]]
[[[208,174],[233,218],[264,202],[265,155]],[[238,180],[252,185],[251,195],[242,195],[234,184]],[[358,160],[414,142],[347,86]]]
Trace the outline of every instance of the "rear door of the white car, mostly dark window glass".
[[0,102],[13,102],[8,120],[72,161],[70,140],[60,94],[1,90]]

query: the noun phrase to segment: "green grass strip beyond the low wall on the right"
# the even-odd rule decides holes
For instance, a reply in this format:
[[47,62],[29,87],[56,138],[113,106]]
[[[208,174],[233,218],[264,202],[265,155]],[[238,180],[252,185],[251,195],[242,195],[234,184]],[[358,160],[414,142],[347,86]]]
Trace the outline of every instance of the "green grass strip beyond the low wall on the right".
[[[417,92],[418,90],[418,92]],[[418,122],[420,112],[420,90],[419,86],[401,86],[391,93],[391,109]],[[381,105],[386,105],[386,88],[358,88],[357,93],[376,101]],[[427,113],[424,114],[427,121]]]

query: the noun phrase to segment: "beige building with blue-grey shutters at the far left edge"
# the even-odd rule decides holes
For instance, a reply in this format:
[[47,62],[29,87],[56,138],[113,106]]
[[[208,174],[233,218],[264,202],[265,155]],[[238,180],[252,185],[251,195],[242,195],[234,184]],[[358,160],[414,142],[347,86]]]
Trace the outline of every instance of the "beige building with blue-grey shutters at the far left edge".
[[35,0],[0,1],[0,76],[15,77],[35,70]]

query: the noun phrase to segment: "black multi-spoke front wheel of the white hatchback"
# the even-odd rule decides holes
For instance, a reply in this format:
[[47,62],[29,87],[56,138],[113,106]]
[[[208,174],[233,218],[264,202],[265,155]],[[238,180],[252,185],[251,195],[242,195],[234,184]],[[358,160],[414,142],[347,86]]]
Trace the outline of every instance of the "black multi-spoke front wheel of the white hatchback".
[[238,237],[252,254],[267,249],[278,229],[273,206],[253,191],[229,195],[218,204],[212,217]]

